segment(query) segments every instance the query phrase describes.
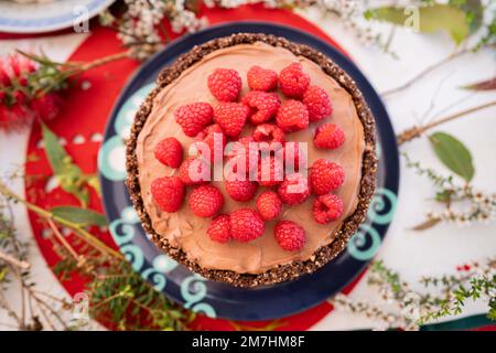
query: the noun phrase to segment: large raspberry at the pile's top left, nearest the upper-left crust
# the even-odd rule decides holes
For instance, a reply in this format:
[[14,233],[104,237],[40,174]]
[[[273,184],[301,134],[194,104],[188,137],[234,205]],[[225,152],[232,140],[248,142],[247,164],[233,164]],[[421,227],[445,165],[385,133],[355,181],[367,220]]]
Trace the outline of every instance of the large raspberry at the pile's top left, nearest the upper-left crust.
[[241,90],[241,76],[236,69],[216,68],[208,76],[208,89],[220,101],[235,101]]

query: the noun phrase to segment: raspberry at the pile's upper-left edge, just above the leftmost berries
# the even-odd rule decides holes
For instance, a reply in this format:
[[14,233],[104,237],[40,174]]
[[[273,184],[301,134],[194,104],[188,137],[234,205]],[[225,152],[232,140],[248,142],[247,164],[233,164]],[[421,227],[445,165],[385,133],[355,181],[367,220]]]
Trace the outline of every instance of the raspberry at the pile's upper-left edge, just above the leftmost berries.
[[186,104],[174,110],[175,121],[188,137],[195,137],[202,131],[204,127],[212,122],[213,116],[212,106],[202,101]]

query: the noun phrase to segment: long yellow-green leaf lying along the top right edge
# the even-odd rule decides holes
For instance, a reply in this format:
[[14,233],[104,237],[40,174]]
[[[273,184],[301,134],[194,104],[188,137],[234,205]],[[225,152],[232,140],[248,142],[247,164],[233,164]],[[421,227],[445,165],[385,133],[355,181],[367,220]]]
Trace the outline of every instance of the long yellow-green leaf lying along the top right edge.
[[[448,4],[432,4],[421,7],[418,17],[418,30],[423,33],[446,31],[456,44],[463,42],[470,33],[470,25],[465,12]],[[367,10],[367,20],[378,20],[398,25],[412,28],[414,14],[408,8],[381,7]]]

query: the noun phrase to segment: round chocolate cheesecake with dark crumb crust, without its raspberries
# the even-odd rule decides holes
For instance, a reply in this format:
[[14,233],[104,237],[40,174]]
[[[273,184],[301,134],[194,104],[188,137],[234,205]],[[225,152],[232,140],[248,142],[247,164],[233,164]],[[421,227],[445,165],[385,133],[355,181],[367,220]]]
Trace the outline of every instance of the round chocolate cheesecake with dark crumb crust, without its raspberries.
[[[195,142],[177,124],[174,111],[195,101],[215,107],[218,99],[211,92],[208,79],[219,67],[233,68],[242,78],[236,100],[240,104],[241,97],[250,90],[246,77],[254,65],[281,73],[294,63],[301,65],[311,85],[328,95],[332,114],[310,121],[304,129],[285,129],[287,140],[308,142],[306,159],[311,169],[319,160],[341,165],[345,176],[333,191],[342,202],[338,217],[332,222],[315,222],[312,214],[320,195],[311,194],[301,202],[284,203],[276,218],[262,221],[262,231],[252,240],[216,242],[208,233],[212,217],[197,216],[188,202],[182,202],[173,212],[165,212],[152,194],[152,184],[159,176],[177,175],[179,169],[158,160],[157,146],[164,138],[174,138],[186,154]],[[280,87],[274,94],[284,99]],[[319,127],[328,122],[338,126],[345,136],[344,142],[335,149],[314,143]],[[248,125],[242,128],[241,137],[252,133],[255,126]],[[283,38],[239,33],[195,46],[160,73],[157,87],[136,116],[127,143],[127,186],[145,232],[159,248],[180,264],[205,278],[234,286],[277,284],[315,271],[346,247],[365,220],[374,194],[375,145],[374,117],[354,81],[339,66],[314,49]],[[224,201],[216,214],[225,215],[239,208],[257,212],[257,197],[271,190],[258,185],[252,199],[239,202],[226,191],[225,182],[208,184],[220,191]],[[192,199],[193,190],[185,188],[184,200]],[[304,231],[304,242],[296,250],[284,249],[274,237],[280,221],[291,221]]]

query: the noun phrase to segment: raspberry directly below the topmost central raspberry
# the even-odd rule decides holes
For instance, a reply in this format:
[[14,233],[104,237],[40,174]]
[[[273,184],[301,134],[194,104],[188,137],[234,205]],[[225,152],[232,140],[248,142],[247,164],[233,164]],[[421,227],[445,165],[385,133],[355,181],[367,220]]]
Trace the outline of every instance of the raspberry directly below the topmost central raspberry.
[[281,101],[274,93],[250,90],[241,101],[251,107],[255,113],[250,116],[252,124],[262,124],[270,120],[278,113]]

